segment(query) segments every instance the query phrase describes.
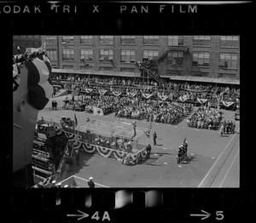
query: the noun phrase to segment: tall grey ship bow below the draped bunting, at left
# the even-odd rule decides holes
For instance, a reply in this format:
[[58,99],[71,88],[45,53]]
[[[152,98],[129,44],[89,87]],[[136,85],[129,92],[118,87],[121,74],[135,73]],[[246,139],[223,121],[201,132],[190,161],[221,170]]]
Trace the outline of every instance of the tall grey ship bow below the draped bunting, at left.
[[[22,70],[20,73],[19,88],[13,93],[14,176],[23,173],[26,169],[25,167],[31,169],[29,167],[32,164],[33,137],[38,119],[38,110],[29,104],[27,89],[27,71]],[[30,174],[28,176],[29,179],[32,177],[32,171],[29,170],[26,174]],[[15,185],[15,182],[13,185]]]

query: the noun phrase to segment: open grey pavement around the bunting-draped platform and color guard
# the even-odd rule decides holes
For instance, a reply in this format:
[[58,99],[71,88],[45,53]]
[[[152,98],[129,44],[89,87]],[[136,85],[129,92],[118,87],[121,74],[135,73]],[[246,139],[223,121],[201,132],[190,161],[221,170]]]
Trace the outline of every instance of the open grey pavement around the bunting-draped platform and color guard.
[[[61,107],[64,96],[54,100]],[[79,111],[51,111],[50,107],[51,100],[46,108],[39,112],[38,117],[54,119],[66,116],[73,119],[76,113],[79,125],[85,123],[87,117],[106,121],[115,119],[113,114],[100,117]],[[224,111],[224,118],[234,121],[234,111]],[[137,121],[137,126],[147,128],[148,123]],[[239,129],[239,122],[236,122],[237,129]],[[138,163],[136,166],[126,166],[116,159],[81,152],[80,166],[73,165],[67,172],[67,177],[75,174],[88,179],[92,175],[97,183],[109,187],[196,187],[207,175],[224,148],[234,139],[234,134],[220,137],[218,131],[189,128],[185,120],[177,126],[153,123],[151,134],[154,131],[158,135],[158,146],[153,146],[149,160]],[[189,143],[189,159],[187,163],[177,164],[177,147],[183,142],[184,137]],[[143,135],[139,142],[148,144],[148,139]],[[152,137],[150,137],[150,143],[153,145]],[[220,177],[214,180],[215,186],[239,186],[239,148],[230,154],[230,158],[219,171]]]

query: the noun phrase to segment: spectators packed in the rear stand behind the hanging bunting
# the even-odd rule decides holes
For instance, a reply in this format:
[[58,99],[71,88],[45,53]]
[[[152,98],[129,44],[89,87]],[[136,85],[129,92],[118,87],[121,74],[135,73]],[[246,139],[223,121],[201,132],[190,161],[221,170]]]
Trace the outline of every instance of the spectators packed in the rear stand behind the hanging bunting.
[[137,94],[153,94],[157,96],[158,92],[168,96],[168,100],[179,100],[181,97],[189,103],[198,103],[200,100],[208,100],[213,106],[217,106],[218,100],[236,103],[239,97],[240,89],[237,86],[217,86],[214,83],[188,83],[169,81],[162,88],[153,80],[147,81],[143,78],[122,78],[122,77],[70,77],[63,75],[55,77],[55,82],[61,84],[63,89],[73,92],[77,89],[81,94],[88,94],[85,89],[91,89],[90,93],[97,93],[99,89],[107,89],[111,94],[113,89],[122,91],[134,91]]

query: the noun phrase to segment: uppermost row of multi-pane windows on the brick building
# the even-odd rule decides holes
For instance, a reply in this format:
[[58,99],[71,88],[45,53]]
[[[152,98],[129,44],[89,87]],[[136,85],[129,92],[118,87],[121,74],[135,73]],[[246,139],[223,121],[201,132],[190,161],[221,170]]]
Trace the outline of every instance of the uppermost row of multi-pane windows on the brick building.
[[[79,36],[80,44],[92,44],[94,41],[93,36]],[[62,36],[62,44],[73,44],[74,36]],[[56,36],[47,36],[46,44],[56,44]],[[100,44],[113,44],[113,36],[100,36]],[[121,44],[136,44],[135,36],[120,36]],[[144,45],[159,45],[159,36],[143,36]],[[168,36],[167,45],[168,46],[182,46],[184,44],[183,36]],[[233,47],[238,48],[239,38],[237,36],[220,36],[219,44],[221,47]],[[211,36],[193,36],[193,45],[195,46],[211,46]]]

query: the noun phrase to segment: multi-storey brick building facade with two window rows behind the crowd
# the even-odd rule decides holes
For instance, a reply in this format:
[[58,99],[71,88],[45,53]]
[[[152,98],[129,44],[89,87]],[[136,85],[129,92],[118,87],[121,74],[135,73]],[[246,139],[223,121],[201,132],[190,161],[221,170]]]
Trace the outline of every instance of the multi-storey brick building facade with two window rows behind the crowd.
[[238,36],[41,36],[59,69],[139,73],[157,59],[160,77],[240,79]]

